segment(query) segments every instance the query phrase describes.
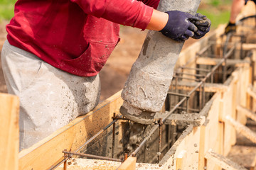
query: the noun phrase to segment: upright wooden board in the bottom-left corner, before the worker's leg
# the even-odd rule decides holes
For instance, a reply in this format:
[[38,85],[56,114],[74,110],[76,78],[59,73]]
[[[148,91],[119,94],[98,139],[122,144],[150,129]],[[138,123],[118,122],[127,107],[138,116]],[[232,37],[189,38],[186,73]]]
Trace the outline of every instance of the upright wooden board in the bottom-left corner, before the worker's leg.
[[0,167],[4,170],[18,169],[18,113],[18,97],[0,94]]

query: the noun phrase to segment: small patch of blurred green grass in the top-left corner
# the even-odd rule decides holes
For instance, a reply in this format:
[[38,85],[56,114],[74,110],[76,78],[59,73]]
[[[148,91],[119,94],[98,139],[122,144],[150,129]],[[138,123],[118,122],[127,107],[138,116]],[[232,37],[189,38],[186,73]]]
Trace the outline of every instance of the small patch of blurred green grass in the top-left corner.
[[0,0],[0,21],[10,20],[14,16],[16,0]]

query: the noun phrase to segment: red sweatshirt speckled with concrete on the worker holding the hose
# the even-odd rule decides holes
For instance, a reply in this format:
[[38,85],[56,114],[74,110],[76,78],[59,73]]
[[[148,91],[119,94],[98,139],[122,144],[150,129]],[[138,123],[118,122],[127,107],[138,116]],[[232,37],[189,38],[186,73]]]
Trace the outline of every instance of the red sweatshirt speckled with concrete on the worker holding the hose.
[[136,0],[18,0],[7,39],[53,67],[95,76],[119,41],[119,24],[146,28],[159,0],[144,3],[149,6]]

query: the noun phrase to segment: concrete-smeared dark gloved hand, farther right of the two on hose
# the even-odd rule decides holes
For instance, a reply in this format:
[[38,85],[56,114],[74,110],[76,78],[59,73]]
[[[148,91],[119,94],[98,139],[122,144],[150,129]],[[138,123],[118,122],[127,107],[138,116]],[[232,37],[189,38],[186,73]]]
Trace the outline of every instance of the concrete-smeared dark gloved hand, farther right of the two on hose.
[[201,13],[196,13],[196,17],[201,18],[202,20],[201,21],[191,21],[198,28],[198,30],[195,31],[195,35],[193,35],[192,38],[199,39],[199,38],[202,38],[204,35],[206,35],[206,33],[209,32],[211,22],[206,16],[203,16]]

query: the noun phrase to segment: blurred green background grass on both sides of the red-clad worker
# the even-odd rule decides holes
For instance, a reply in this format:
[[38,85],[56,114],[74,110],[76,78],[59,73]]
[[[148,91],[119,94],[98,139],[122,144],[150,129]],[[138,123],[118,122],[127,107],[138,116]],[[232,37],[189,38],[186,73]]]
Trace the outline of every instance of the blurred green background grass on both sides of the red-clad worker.
[[[15,2],[16,0],[0,0],[0,22],[8,21],[14,16]],[[201,0],[198,12],[212,21],[212,29],[217,28],[219,24],[228,23],[231,3],[232,0]]]

